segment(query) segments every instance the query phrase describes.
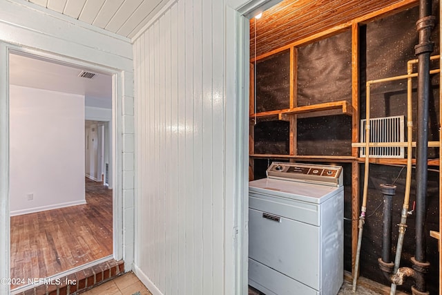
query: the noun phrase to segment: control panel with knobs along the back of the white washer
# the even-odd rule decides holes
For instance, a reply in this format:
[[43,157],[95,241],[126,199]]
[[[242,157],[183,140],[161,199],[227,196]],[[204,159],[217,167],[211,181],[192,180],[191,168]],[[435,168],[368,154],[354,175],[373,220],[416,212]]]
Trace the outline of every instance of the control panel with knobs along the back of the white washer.
[[267,177],[340,187],[342,171],[342,166],[273,162],[267,169]]

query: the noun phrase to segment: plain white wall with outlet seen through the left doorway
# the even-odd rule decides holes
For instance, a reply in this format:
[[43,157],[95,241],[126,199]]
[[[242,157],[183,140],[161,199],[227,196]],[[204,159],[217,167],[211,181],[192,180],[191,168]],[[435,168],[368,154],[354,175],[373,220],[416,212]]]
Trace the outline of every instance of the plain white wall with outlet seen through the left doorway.
[[86,203],[84,95],[10,85],[10,129],[11,216]]

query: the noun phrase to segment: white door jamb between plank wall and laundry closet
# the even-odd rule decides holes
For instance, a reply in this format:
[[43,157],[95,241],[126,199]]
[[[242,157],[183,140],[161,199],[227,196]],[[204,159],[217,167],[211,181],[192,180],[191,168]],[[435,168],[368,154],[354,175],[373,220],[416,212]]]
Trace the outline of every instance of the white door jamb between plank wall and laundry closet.
[[[226,99],[227,120],[225,233],[226,269],[224,292],[248,294],[249,281],[249,41],[250,19],[282,0],[227,0],[226,9]],[[231,219],[233,216],[233,220]],[[233,234],[231,229],[233,228]],[[230,238],[232,237],[232,238]],[[233,260],[234,272],[228,265]]]

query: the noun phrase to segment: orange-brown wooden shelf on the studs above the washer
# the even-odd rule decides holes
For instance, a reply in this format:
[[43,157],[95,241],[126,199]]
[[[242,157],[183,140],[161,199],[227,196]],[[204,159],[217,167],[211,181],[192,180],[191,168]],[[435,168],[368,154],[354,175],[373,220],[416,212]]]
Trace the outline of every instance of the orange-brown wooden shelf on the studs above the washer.
[[345,115],[352,115],[352,106],[346,100],[340,100],[338,102],[325,102],[323,104],[311,104],[309,106],[298,106],[296,108],[285,108],[277,111],[268,111],[261,113],[250,114],[250,118],[255,117],[271,117],[278,115],[279,120],[289,120],[287,117],[289,115],[298,115],[304,113],[314,113],[320,111],[330,111],[330,110],[342,110]]

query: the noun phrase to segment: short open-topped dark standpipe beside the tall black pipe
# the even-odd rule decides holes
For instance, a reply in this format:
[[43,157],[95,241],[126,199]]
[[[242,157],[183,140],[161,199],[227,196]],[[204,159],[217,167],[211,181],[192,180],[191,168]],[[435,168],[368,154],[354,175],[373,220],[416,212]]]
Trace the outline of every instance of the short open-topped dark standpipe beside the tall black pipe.
[[392,209],[393,196],[396,192],[396,185],[381,184],[381,192],[384,198],[383,220],[382,220],[382,260],[384,263],[392,262]]

